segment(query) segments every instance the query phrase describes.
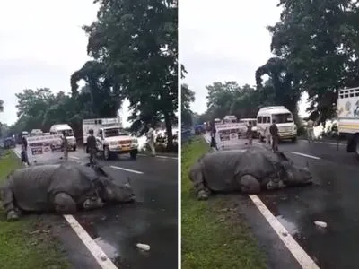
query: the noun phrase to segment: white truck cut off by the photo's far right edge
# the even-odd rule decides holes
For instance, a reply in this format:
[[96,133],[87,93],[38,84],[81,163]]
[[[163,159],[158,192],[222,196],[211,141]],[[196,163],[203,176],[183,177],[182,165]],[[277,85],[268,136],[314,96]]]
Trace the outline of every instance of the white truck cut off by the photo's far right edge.
[[346,152],[355,152],[359,160],[359,87],[338,91],[337,130],[346,137]]

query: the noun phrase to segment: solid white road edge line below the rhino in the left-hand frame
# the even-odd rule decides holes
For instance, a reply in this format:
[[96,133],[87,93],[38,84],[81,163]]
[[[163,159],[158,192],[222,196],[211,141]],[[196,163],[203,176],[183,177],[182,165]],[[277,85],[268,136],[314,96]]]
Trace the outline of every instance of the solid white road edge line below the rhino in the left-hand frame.
[[64,218],[68,224],[70,224],[79,239],[83,241],[83,244],[87,247],[87,249],[89,249],[92,256],[96,259],[102,269],[118,269],[118,267],[114,265],[109,257],[102,251],[101,247],[99,247],[90,237],[86,230],[83,230],[83,227],[74,219],[73,215],[64,215]]

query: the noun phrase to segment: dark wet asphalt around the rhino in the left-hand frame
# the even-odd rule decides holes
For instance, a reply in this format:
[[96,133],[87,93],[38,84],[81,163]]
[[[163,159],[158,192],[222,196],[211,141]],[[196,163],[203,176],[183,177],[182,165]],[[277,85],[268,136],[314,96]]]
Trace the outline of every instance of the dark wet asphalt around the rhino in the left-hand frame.
[[[69,161],[88,161],[82,150],[69,153]],[[177,268],[178,266],[178,160],[174,156],[123,155],[115,161],[99,161],[109,174],[123,182],[130,178],[136,204],[122,204],[74,218],[112,262],[121,268]],[[127,170],[123,170],[127,169]],[[64,244],[74,268],[99,268],[90,252],[61,216],[48,216]],[[148,252],[136,247],[144,243]]]

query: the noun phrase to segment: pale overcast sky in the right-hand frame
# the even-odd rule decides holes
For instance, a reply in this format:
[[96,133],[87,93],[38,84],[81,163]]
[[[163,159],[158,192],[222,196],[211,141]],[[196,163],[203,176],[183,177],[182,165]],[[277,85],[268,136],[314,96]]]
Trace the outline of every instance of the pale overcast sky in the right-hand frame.
[[[180,62],[184,81],[196,93],[191,108],[206,111],[206,85],[236,81],[255,85],[255,72],[273,56],[267,25],[279,21],[279,0],[181,0]],[[306,116],[307,96],[300,115]]]

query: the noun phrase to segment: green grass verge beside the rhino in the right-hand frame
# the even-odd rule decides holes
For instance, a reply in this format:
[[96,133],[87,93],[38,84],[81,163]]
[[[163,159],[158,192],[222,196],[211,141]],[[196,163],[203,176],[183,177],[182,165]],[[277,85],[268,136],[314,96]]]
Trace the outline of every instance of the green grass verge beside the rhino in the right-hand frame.
[[266,268],[265,257],[229,196],[197,201],[188,169],[208,152],[202,138],[182,146],[182,268]]

